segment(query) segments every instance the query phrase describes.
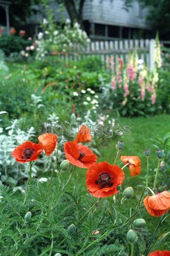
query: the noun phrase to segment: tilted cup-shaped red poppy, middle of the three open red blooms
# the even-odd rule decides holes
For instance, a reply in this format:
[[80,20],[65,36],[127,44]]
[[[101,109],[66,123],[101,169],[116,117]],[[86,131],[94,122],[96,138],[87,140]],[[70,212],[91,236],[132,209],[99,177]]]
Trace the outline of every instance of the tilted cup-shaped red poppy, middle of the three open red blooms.
[[66,142],[64,145],[65,157],[70,163],[80,168],[89,168],[97,161],[96,154],[85,145],[79,145],[73,141]]

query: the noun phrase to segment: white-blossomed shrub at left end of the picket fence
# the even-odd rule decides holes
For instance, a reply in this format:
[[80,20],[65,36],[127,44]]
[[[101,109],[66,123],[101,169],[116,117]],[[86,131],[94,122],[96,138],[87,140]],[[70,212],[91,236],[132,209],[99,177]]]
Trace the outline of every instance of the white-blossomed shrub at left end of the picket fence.
[[37,55],[36,58],[40,60],[45,55],[60,55],[62,53],[77,51],[77,44],[86,46],[89,38],[85,31],[80,29],[79,23],[74,23],[71,26],[71,21],[67,19],[64,27],[57,27],[51,29],[51,24],[46,21],[44,25],[44,32],[39,32],[36,40]]

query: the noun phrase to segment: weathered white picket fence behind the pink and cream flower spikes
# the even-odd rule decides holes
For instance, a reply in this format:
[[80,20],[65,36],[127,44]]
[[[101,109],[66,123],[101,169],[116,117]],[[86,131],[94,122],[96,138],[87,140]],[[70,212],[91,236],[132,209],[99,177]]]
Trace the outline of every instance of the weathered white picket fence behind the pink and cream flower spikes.
[[122,58],[127,61],[129,52],[137,50],[138,57],[142,58],[150,70],[154,69],[154,39],[136,39],[136,40],[114,40],[114,41],[93,41],[88,47],[76,46],[76,52],[69,55],[63,55],[66,60],[74,61],[80,58],[86,58],[89,55],[100,55],[103,61],[108,57],[114,56],[114,60]]

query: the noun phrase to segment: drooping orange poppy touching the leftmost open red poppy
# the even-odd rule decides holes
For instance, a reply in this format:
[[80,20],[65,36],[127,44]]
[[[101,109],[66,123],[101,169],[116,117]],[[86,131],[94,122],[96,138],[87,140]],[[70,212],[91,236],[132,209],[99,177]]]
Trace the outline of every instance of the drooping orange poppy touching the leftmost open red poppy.
[[42,147],[45,150],[45,154],[50,156],[57,144],[57,135],[56,134],[42,134],[38,137],[39,142],[41,143]]

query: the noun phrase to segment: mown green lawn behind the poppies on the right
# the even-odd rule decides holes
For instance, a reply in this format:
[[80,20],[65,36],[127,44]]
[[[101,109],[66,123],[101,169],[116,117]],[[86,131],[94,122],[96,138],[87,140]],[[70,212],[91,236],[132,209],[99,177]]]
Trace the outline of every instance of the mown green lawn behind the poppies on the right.
[[[146,156],[144,155],[144,149],[149,148],[151,150],[150,154],[150,172],[149,172],[149,186],[153,187],[153,180],[155,172],[153,169],[156,168],[158,158],[156,157],[156,148],[153,146],[153,141],[151,139],[158,139],[164,137],[165,134],[170,132],[170,116],[167,114],[150,116],[150,117],[134,117],[120,118],[121,125],[128,124],[131,126],[131,134],[117,136],[116,138],[105,138],[103,145],[99,148],[101,157],[98,157],[98,162],[107,161],[113,164],[116,157],[116,142],[117,140],[125,141],[125,148],[122,150],[122,155],[135,155],[141,160],[141,174],[136,177],[131,177],[129,174],[129,169],[126,167],[125,171],[125,182],[122,185],[122,189],[127,186],[132,186],[134,188],[135,194],[133,198],[127,200],[123,207],[124,213],[128,216],[130,207],[132,212],[135,210],[137,204],[136,195],[140,195],[142,188],[137,186],[139,184],[145,184],[146,175]],[[122,167],[124,164],[118,160],[116,163],[118,166]],[[74,177],[76,178],[76,171]],[[158,186],[161,185],[161,179],[158,179]],[[85,171],[81,170],[79,174],[79,186],[85,187]],[[170,189],[170,187],[169,187]],[[159,218],[154,218],[150,216],[146,211],[144,211],[143,217],[147,222],[147,227],[150,232],[156,228]],[[170,216],[159,228],[157,238],[161,236],[162,233],[167,233],[170,231]],[[169,241],[168,241],[169,240]],[[162,250],[170,249],[170,239],[167,239],[164,244],[160,247]]]

